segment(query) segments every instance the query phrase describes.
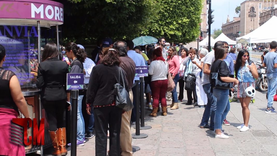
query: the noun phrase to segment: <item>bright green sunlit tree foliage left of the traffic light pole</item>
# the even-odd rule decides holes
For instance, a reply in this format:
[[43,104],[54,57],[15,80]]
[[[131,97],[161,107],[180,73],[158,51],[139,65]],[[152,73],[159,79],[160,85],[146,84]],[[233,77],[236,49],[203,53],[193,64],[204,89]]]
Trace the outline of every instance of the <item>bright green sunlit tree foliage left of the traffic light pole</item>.
[[164,36],[169,42],[194,41],[200,33],[202,0],[166,0],[160,4],[159,16],[149,25],[148,34]]

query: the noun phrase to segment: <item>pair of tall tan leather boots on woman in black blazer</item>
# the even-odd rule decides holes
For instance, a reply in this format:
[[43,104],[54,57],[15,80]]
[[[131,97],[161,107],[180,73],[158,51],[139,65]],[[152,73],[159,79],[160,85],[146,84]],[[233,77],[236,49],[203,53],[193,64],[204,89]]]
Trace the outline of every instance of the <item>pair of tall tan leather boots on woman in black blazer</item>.
[[65,128],[59,128],[57,131],[49,131],[52,144],[54,147],[54,154],[56,156],[66,155],[66,131]]

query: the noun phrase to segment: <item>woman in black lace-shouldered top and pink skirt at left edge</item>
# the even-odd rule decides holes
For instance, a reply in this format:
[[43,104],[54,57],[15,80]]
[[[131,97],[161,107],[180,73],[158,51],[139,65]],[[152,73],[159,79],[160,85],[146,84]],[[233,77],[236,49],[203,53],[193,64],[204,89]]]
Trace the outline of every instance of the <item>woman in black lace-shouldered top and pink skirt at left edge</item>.
[[11,121],[18,117],[18,110],[25,118],[30,115],[16,75],[2,68],[5,58],[6,50],[0,44],[0,155],[25,155],[24,146],[11,140]]

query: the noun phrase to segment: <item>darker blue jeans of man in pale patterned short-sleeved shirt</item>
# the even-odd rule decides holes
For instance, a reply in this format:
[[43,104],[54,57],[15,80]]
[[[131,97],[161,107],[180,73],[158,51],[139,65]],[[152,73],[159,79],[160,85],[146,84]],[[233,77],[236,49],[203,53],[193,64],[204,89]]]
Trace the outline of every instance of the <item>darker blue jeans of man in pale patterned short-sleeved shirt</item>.
[[208,103],[206,105],[205,111],[203,113],[202,121],[200,126],[205,126],[208,124],[209,118],[211,116],[210,128],[214,129],[214,115],[216,112],[216,97],[212,93],[211,84],[203,85],[204,92],[207,94]]

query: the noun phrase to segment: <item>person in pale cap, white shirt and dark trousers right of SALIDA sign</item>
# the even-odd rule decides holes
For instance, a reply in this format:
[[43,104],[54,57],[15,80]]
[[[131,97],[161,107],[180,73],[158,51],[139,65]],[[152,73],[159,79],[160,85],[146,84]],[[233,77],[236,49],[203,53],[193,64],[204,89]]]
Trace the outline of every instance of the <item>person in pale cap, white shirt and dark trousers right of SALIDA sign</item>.
[[[83,48],[84,47],[82,45],[78,44],[78,47]],[[83,63],[84,69],[84,88],[87,88],[88,83],[89,83],[89,77],[91,75],[91,71],[92,68],[95,66],[95,63],[93,62],[93,60],[91,60],[90,58],[86,58],[85,62]],[[93,111],[91,111],[91,115],[88,115],[86,113],[86,91],[84,91],[84,97],[82,100],[82,114],[84,117],[84,127],[85,127],[85,131],[86,131],[86,135],[85,138],[86,139],[91,139],[92,137],[94,137],[93,134],[93,126],[94,126],[94,117],[93,117]]]

